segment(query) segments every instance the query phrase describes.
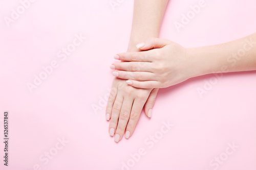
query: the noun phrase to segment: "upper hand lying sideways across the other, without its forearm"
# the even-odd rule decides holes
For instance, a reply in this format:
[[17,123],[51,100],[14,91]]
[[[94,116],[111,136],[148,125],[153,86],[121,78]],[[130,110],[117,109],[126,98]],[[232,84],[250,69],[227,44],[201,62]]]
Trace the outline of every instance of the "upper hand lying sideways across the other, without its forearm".
[[143,52],[117,54],[115,59],[126,62],[111,65],[116,69],[113,75],[133,87],[164,88],[200,75],[199,65],[203,63],[177,43],[151,38],[137,47]]

